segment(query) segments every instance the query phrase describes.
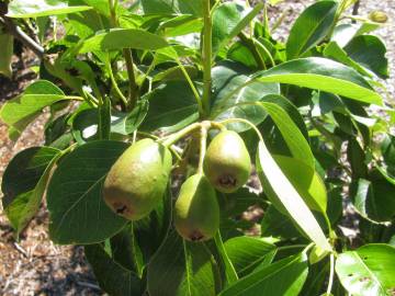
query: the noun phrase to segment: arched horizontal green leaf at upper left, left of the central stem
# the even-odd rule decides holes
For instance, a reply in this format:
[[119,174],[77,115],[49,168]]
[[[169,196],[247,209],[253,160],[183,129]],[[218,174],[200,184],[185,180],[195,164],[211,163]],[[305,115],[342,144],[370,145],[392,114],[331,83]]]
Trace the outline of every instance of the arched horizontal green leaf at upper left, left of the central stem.
[[165,38],[147,31],[138,29],[113,29],[86,39],[79,48],[79,53],[86,54],[123,48],[156,50],[167,46],[169,46],[169,44]]

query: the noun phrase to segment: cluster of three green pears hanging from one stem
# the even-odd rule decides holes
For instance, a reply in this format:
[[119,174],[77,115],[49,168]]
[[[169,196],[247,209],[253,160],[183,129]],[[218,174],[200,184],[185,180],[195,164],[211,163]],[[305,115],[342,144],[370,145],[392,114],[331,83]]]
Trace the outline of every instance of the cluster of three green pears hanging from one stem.
[[[251,161],[241,137],[223,130],[204,155],[202,169],[188,178],[174,206],[177,231],[187,240],[204,241],[219,227],[216,191],[232,193],[241,187]],[[172,169],[170,150],[153,139],[132,145],[111,168],[103,187],[108,206],[129,220],[146,217],[165,195]]]

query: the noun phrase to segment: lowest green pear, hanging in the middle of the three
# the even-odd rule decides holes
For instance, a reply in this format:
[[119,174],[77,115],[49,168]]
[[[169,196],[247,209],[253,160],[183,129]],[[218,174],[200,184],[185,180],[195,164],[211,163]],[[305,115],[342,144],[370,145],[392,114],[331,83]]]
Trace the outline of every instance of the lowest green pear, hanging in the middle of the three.
[[204,174],[190,177],[174,206],[177,231],[187,240],[205,241],[219,228],[219,206],[214,187]]

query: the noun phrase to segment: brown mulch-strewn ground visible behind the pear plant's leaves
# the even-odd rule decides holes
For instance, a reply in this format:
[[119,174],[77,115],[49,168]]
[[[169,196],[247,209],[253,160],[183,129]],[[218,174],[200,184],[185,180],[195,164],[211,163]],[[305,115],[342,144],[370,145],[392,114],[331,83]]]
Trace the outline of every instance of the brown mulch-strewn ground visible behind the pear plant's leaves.
[[[276,31],[278,37],[286,36],[287,29],[298,12],[312,0],[287,0],[278,9],[271,11],[271,21],[275,21],[285,9],[290,9],[284,23]],[[361,14],[366,15],[372,10],[384,10],[390,18],[395,18],[395,1],[362,0]],[[388,58],[394,72],[395,34],[394,19],[379,31],[388,47]],[[0,107],[8,99],[20,93],[34,78],[29,67],[36,60],[31,53],[23,54],[24,65],[15,58],[13,65],[14,79],[12,81],[0,77]],[[392,98],[395,80],[387,82]],[[43,144],[44,123],[47,118],[43,114],[32,124],[16,143],[7,136],[7,127],[0,122],[0,181],[4,168],[10,159],[27,147]],[[12,229],[0,208],[0,295],[102,295],[94,276],[87,263],[81,247],[55,246],[47,235],[48,214],[45,205],[37,217],[24,231],[21,241],[13,239]]]

